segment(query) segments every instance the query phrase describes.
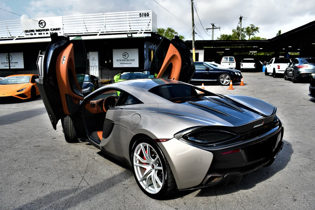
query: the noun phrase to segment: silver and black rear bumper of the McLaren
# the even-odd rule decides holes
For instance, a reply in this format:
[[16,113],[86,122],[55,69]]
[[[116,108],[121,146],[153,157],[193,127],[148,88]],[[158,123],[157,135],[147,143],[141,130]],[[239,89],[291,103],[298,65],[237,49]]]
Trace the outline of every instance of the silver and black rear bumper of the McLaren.
[[[244,140],[215,148],[184,143],[184,139],[158,144],[169,161],[178,189],[197,189],[235,184],[243,175],[272,164],[283,147],[283,125],[279,120],[268,131],[260,132],[249,139],[245,137],[250,134],[243,134]],[[222,155],[237,149],[239,152]]]

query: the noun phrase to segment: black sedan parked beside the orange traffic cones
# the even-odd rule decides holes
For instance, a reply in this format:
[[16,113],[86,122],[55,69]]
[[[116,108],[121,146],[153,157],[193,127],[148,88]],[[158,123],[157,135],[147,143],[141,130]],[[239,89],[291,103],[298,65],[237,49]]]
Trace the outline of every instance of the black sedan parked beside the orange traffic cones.
[[208,82],[219,82],[221,85],[229,85],[241,82],[242,73],[239,70],[218,68],[207,62],[195,62],[196,72],[190,83],[201,84]]

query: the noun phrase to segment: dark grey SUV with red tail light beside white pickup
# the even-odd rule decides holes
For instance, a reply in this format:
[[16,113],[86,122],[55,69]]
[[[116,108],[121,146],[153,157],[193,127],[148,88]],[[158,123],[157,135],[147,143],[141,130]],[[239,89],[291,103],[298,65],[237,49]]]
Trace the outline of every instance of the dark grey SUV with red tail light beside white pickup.
[[315,57],[295,58],[284,72],[284,79],[296,83],[301,79],[311,79],[315,75]]

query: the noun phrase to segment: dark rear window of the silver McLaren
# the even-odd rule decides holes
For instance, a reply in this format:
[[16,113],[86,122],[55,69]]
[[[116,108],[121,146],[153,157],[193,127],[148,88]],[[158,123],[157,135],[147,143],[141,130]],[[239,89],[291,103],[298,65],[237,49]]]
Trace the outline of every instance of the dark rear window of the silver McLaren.
[[167,100],[180,97],[197,96],[196,90],[185,84],[165,84],[159,85],[149,90],[149,92],[158,95]]

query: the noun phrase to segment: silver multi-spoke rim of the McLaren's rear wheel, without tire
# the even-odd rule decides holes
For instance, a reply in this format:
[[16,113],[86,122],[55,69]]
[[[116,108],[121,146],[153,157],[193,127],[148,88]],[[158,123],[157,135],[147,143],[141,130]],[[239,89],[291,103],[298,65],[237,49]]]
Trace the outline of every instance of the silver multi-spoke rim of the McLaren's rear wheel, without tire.
[[147,143],[140,143],[134,152],[135,175],[148,193],[156,194],[163,186],[163,168],[157,152]]

